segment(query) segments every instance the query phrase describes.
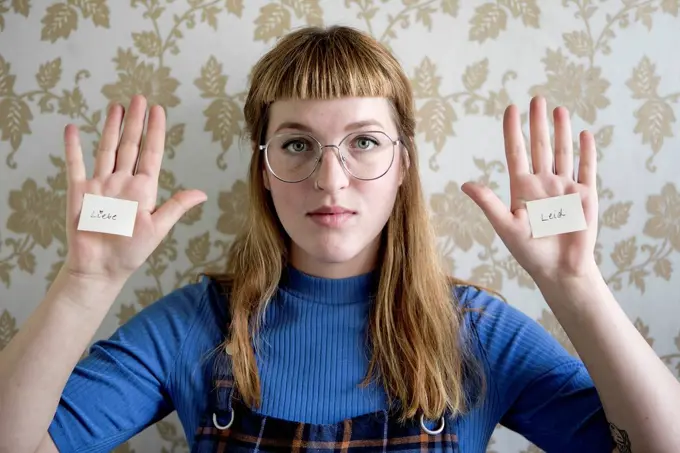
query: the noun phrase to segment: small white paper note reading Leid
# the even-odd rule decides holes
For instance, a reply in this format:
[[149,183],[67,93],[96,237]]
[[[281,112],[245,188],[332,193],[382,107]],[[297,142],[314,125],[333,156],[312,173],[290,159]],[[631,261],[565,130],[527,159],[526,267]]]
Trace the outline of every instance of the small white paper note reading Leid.
[[578,193],[527,202],[531,234],[535,238],[585,230],[588,225]]

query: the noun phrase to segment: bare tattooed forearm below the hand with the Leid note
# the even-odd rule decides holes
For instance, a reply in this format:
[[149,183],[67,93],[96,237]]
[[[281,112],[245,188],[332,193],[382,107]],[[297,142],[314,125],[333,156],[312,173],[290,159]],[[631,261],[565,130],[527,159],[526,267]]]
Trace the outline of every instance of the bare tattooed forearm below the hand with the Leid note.
[[630,450],[675,453],[680,383],[621,309],[596,268],[588,277],[539,282],[548,305],[586,365],[614,431]]

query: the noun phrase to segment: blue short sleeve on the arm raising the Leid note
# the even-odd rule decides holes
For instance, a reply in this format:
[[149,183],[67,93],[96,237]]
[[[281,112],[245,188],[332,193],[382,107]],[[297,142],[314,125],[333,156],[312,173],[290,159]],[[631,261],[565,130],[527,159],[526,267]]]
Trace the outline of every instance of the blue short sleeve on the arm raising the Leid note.
[[459,297],[473,309],[467,325],[483,352],[500,423],[551,453],[611,453],[609,425],[584,364],[490,293],[466,287]]

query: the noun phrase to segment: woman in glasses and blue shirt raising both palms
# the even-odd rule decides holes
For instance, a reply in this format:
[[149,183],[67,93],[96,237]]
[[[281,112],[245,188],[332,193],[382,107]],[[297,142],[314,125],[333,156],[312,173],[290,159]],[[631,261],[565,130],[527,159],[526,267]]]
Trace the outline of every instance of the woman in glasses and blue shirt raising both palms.
[[[594,262],[595,145],[581,134],[574,180],[564,109],[553,158],[545,102],[532,101],[530,169],[508,108],[509,209],[485,187],[463,190],[585,365],[491,293],[446,277],[411,88],[376,41],[295,31],[252,80],[250,204],[229,269],[145,308],[79,364],[126,280],[206,196],[155,208],[165,117],[150,109],[140,146],[141,97],[120,142],[123,111],[111,107],[92,179],[66,128],[68,257],[0,356],[0,451],[110,451],[173,410],[194,452],[483,452],[498,423],[549,452],[677,451],[680,386]],[[133,236],[77,230],[85,193],[137,201]],[[568,193],[587,229],[532,238],[522,200]]]

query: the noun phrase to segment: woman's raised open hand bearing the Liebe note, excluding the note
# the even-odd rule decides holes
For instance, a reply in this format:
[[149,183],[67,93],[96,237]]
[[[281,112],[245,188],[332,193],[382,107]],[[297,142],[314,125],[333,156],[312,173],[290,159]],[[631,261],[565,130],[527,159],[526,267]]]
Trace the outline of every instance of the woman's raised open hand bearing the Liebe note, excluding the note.
[[[156,207],[165,148],[165,112],[160,106],[151,107],[143,137],[146,110],[142,96],[132,98],[127,113],[120,105],[109,109],[91,179],[86,177],[78,129],[72,124],[66,126],[68,254],[63,272],[78,277],[127,279],[182,215],[206,200],[205,193],[186,190]],[[132,237],[77,230],[86,193],[137,201]]]

